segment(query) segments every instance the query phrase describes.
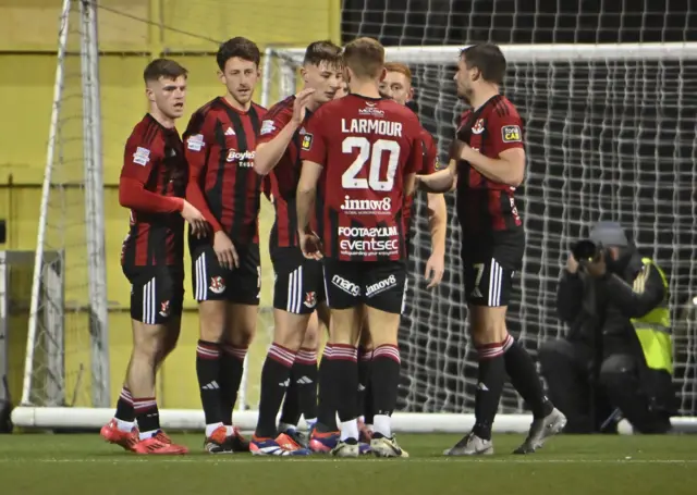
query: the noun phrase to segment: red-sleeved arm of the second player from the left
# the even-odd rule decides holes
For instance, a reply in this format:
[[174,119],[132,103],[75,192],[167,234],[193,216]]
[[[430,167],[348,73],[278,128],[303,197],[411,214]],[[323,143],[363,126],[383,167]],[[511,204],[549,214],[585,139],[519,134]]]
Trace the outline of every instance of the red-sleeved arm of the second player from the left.
[[216,233],[222,231],[222,226],[208,208],[206,196],[200,188],[200,178],[205,173],[210,148],[213,144],[211,119],[207,119],[206,115],[204,112],[194,113],[184,133],[184,148],[188,162],[186,200],[201,212]]

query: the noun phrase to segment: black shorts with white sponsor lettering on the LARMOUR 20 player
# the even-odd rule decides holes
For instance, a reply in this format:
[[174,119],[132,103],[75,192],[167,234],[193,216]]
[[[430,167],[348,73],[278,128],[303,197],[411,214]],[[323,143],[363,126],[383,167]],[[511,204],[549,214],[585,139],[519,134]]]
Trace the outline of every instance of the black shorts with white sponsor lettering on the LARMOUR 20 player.
[[331,309],[348,309],[365,304],[401,314],[406,296],[406,262],[326,258],[325,290]]

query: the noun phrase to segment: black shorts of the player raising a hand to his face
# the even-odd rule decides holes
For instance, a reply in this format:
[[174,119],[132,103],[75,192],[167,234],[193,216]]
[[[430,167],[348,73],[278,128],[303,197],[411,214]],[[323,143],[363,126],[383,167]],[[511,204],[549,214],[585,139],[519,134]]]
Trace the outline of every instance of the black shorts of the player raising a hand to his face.
[[325,302],[322,263],[308,260],[297,247],[271,251],[273,307],[294,314],[311,314]]

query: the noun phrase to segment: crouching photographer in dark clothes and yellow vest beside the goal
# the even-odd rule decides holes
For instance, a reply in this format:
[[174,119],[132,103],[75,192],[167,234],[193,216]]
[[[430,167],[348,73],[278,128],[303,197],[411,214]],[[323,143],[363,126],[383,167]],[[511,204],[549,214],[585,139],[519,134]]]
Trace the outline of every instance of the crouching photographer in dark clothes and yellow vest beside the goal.
[[539,359],[565,432],[616,428],[616,410],[635,431],[668,432],[675,401],[668,282],[617,223],[598,223],[574,246],[557,310],[568,334],[542,345]]

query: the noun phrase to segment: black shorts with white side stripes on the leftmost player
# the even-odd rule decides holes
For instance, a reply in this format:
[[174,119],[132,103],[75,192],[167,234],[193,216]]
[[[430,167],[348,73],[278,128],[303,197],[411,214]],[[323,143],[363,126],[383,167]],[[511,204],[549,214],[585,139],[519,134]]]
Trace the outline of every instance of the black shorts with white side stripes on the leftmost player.
[[182,267],[122,267],[131,282],[131,318],[148,325],[162,325],[182,315],[184,269]]

